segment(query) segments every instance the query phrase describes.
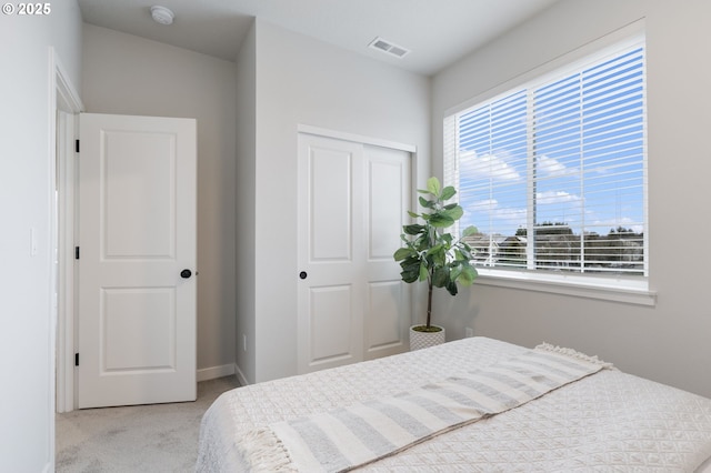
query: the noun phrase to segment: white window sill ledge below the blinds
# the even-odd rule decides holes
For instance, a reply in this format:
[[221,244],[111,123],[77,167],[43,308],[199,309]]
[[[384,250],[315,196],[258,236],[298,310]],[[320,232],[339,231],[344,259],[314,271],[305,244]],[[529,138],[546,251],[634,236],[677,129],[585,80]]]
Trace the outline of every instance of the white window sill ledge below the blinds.
[[637,305],[654,306],[657,304],[657,292],[648,289],[647,280],[598,279],[563,274],[533,275],[522,271],[495,271],[483,268],[477,268],[477,271],[479,272],[478,284]]

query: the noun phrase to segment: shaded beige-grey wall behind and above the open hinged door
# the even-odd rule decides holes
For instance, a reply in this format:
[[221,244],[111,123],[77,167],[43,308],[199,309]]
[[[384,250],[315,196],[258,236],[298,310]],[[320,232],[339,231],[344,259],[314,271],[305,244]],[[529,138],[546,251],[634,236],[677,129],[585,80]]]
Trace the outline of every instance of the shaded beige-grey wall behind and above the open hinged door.
[[198,121],[198,369],[234,363],[233,62],[84,24],[88,112]]

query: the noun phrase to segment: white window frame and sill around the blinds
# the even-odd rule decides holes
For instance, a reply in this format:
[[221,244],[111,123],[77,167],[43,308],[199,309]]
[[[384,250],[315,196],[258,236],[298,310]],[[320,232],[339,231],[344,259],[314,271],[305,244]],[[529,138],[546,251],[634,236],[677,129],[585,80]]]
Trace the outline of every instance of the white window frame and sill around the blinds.
[[[478,105],[493,102],[497,99],[515,93],[518,90],[539,87],[541,83],[549,82],[552,78],[563,78],[569,73],[579,71],[581,67],[591,62],[601,61],[611,53],[629,49],[633,46],[644,47],[647,54],[647,44],[644,37],[643,20],[631,26],[622,28],[601,39],[585,44],[568,54],[563,54],[555,60],[544,63],[520,76],[519,78],[507,81],[501,85],[491,89],[489,92],[468,100],[460,105],[447,110],[443,117],[443,170],[444,182],[455,185],[454,179],[457,172],[451,168],[449,161],[459,159],[457,151],[457,142],[459,140],[457,115],[462,112],[474,110]],[[645,87],[647,89],[647,87]],[[647,94],[647,92],[645,92]],[[644,99],[647,108],[647,98]],[[545,270],[530,270],[515,268],[485,268],[478,265],[480,278],[478,282],[484,285],[495,285],[512,289],[522,289],[537,292],[557,293],[582,298],[602,299],[608,301],[618,301],[641,305],[654,305],[657,303],[655,291],[650,290],[649,285],[649,207],[648,207],[648,137],[647,127],[644,128],[643,148],[644,155],[642,159],[643,167],[643,254],[644,254],[644,275],[619,275],[619,274],[587,274],[584,272],[577,273],[558,273],[548,272]],[[533,160],[529,157],[529,162]],[[531,164],[529,164],[531,165]],[[532,177],[527,178],[527,185],[530,185]],[[530,190],[527,191],[528,200],[531,201]],[[531,215],[529,209],[529,218]],[[459,229],[457,229],[459,231]]]

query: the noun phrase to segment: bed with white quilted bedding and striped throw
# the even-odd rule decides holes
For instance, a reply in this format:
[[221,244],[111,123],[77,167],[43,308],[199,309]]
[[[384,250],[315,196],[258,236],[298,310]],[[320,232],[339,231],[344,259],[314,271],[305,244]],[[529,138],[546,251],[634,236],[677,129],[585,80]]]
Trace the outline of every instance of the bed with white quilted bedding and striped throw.
[[[218,397],[206,412],[196,471],[711,471],[711,400],[623,373],[594,356],[550,345],[543,349],[544,353],[540,353],[498,340],[470,338],[238,388]],[[318,466],[299,463],[303,455],[309,461],[319,456],[298,451],[299,442],[306,442],[303,437],[309,435],[302,435],[296,444],[288,435],[280,436],[287,427],[319,423],[333,413],[373,413],[374,405],[393,407],[393,403],[411,402],[409,396],[423,399],[430,392],[444,399],[442,392],[459,392],[461,388],[452,388],[451,383],[471,385],[472,378],[491,379],[492,373],[499,380],[503,370],[531,363],[530,356],[552,359],[555,370],[560,368],[558,363],[571,360],[592,368],[498,413],[482,412],[485,400],[471,401],[477,407],[465,410],[469,414],[457,411],[463,421],[425,432],[408,444],[395,444],[391,451],[378,451],[360,464],[346,467],[329,463],[328,459]],[[530,373],[530,364],[525,366],[520,371],[531,374],[530,383],[542,386],[544,375]],[[555,378],[555,373],[551,376]],[[504,379],[512,378],[505,374]],[[507,389],[505,399],[515,396],[511,392],[519,395],[525,391],[520,383]],[[479,415],[468,419],[472,412]],[[373,415],[382,417],[381,412]],[[358,421],[363,424],[362,419]],[[378,424],[371,419],[368,423],[369,429]],[[323,426],[326,432],[330,429]],[[267,443],[260,440],[264,432],[270,435]],[[372,433],[372,429],[367,432]],[[380,439],[380,433],[375,434]],[[360,445],[348,436],[350,433],[340,435],[336,433],[333,439],[344,445]],[[320,446],[311,444],[306,449]],[[272,456],[276,450],[281,456]],[[274,462],[274,457],[282,460]]]

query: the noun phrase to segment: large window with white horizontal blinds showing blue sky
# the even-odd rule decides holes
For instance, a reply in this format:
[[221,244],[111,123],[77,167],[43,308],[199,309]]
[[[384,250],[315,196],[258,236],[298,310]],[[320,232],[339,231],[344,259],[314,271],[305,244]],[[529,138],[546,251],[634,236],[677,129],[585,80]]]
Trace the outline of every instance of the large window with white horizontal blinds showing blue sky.
[[638,38],[445,118],[477,265],[645,281],[644,71]]

